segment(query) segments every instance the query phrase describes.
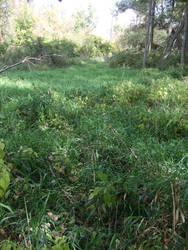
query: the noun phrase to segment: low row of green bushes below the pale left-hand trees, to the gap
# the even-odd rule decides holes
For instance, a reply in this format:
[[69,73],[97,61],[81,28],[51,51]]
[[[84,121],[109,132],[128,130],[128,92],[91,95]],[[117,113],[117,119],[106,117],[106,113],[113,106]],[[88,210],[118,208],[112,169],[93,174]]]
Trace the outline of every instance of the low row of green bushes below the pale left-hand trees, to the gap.
[[[15,41],[1,43],[1,64],[13,64],[29,57],[42,57],[39,65],[69,66],[79,63],[81,58],[94,58],[108,56],[112,51],[112,45],[97,36],[88,36],[83,45],[68,39],[48,40],[42,37],[30,39],[30,41],[17,44]],[[31,65],[32,66],[32,65]],[[35,65],[37,66],[37,65]]]

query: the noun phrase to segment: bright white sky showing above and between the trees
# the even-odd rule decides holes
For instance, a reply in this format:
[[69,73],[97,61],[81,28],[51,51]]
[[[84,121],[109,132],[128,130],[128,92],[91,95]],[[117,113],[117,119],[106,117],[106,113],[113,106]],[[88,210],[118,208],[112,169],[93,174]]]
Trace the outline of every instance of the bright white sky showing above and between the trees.
[[117,0],[62,0],[62,2],[59,2],[55,0],[33,0],[33,2],[40,5],[40,7],[46,4],[49,6],[53,4],[66,15],[72,15],[76,11],[87,9],[87,7],[91,5],[95,9],[97,21],[95,33],[105,38],[110,38],[112,25],[121,24],[128,26],[136,16],[133,11],[128,10],[126,13],[112,20],[112,11],[116,1]]

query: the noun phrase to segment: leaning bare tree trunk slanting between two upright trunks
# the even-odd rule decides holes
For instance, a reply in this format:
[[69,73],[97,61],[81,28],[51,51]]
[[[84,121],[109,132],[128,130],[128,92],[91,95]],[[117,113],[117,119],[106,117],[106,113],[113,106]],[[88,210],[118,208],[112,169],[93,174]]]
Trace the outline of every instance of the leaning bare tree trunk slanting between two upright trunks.
[[163,63],[164,60],[167,59],[167,57],[170,55],[171,51],[172,51],[172,48],[174,47],[174,44],[178,38],[178,36],[180,35],[180,33],[182,32],[183,30],[183,27],[184,27],[184,20],[181,21],[177,31],[174,31],[172,30],[169,38],[168,38],[168,42],[167,42],[167,46],[166,46],[166,49],[163,53],[163,56],[161,57],[159,63]]

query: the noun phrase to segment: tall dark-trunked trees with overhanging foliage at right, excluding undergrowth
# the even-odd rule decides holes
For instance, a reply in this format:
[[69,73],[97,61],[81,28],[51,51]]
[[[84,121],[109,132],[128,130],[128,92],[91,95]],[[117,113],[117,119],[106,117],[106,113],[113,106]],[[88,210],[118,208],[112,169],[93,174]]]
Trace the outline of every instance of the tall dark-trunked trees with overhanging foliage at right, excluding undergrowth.
[[[179,53],[181,52],[181,64],[185,64],[188,36],[186,0],[121,0],[117,2],[116,7],[117,13],[132,9],[138,15],[145,16],[144,67],[147,64],[147,57],[151,49],[155,49],[153,37],[156,29],[165,30],[167,33],[166,45],[163,48],[160,63],[168,58],[174,48],[177,48]],[[146,13],[148,13],[147,16]]]

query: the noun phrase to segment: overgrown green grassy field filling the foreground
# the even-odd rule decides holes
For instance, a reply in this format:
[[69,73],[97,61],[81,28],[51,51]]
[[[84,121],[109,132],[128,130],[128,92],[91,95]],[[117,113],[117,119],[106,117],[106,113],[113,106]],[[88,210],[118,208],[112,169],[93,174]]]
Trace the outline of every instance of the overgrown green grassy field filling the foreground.
[[188,247],[188,82],[178,70],[87,62],[1,74],[0,139],[11,170],[1,249]]

